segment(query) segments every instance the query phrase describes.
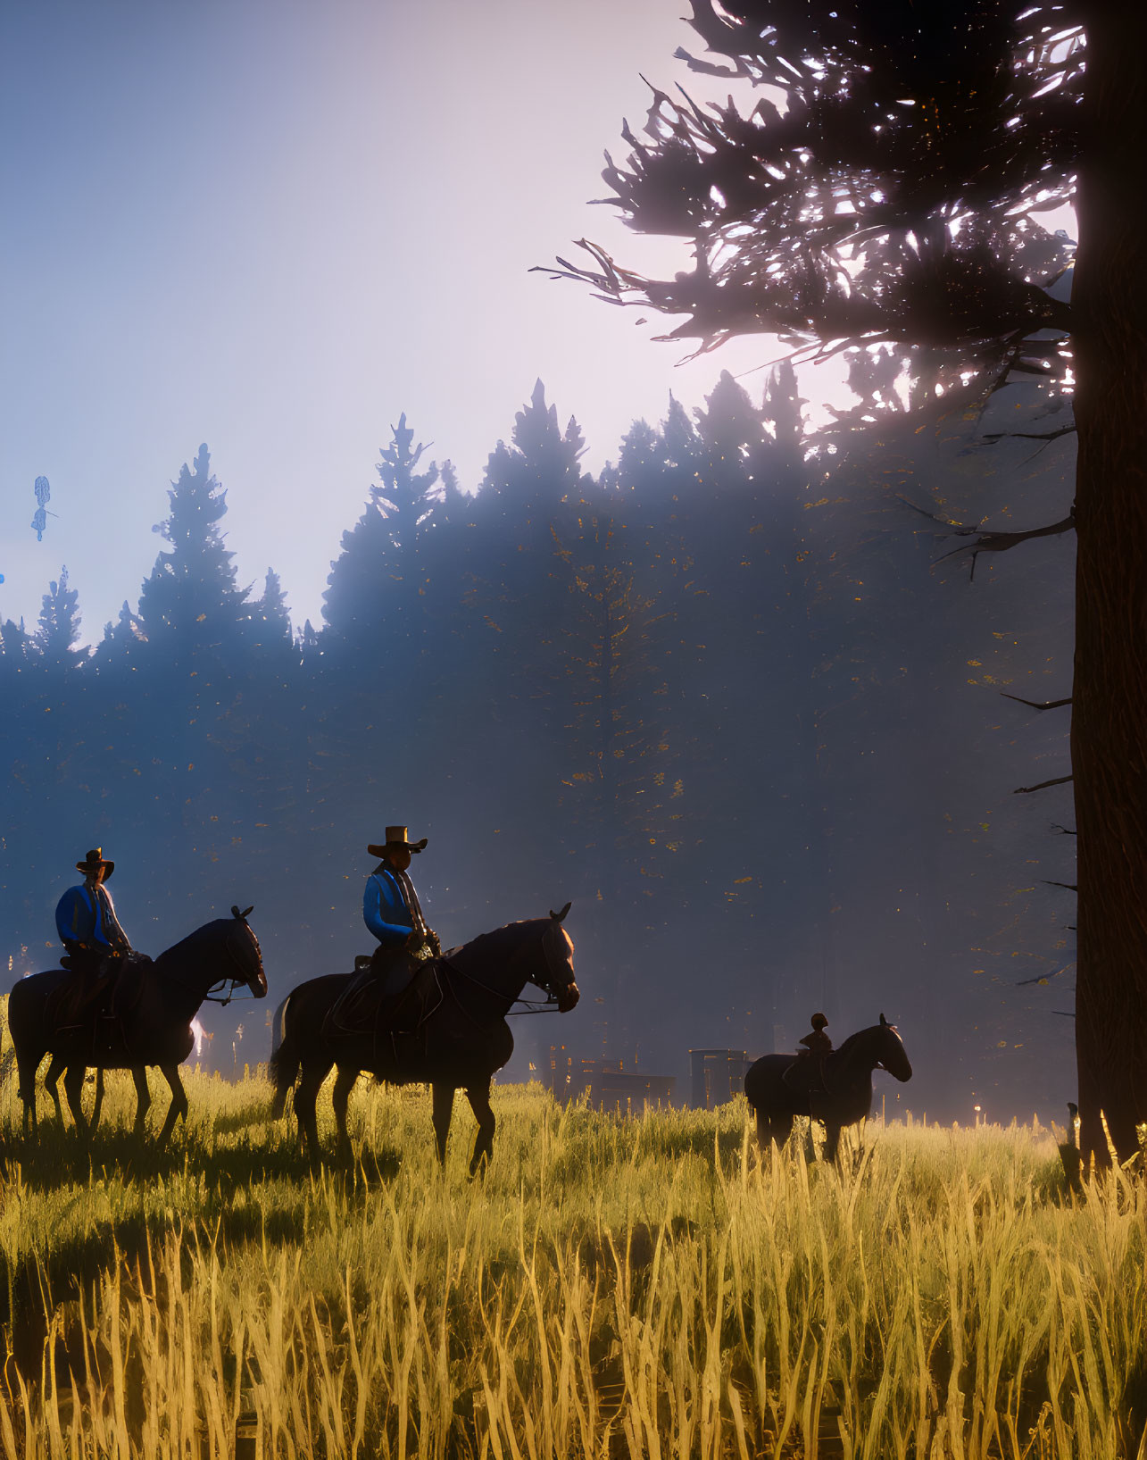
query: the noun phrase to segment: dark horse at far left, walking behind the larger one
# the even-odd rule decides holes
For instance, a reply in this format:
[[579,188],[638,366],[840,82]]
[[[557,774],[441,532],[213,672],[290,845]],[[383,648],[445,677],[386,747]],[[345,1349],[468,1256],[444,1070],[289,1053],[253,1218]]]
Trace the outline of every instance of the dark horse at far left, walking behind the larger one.
[[[250,912],[251,908],[247,910]],[[220,981],[247,984],[255,999],[267,993],[258,939],[238,907],[229,918],[204,923],[182,942],[152,962],[142,959],[120,975],[115,999],[118,1018],[99,1019],[104,1026],[101,1048],[95,1051],[98,1010],[88,1010],[80,1023],[61,1023],[67,988],[74,974],[53,968],[47,974],[20,978],[9,996],[7,1021],[20,1072],[23,1126],[36,1129],[35,1077],[45,1054],[53,1056],[50,1076],[53,1098],[60,1108],[54,1076],[67,1067],[64,1094],[80,1132],[88,1123],[80,1105],[83,1076],[89,1064],[101,1070],[131,1070],[136,1079],[136,1133],[142,1133],[152,1096],[147,1092],[149,1064],[158,1064],[171,1086],[171,1105],[159,1133],[162,1146],[179,1115],[187,1115],[187,1095],[179,1079],[179,1064],[194,1047],[191,1021],[210,988]],[[64,1018],[67,1015],[64,1013]],[[96,1095],[96,1101],[99,1094]],[[96,1104],[95,1118],[99,1118]]]

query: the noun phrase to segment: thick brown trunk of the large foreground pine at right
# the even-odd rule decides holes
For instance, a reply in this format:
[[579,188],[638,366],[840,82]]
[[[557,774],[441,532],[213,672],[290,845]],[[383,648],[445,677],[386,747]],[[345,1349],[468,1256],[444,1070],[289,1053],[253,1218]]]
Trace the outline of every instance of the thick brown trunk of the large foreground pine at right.
[[1075,682],[1075,1051],[1084,1156],[1147,1121],[1147,7],[1087,16],[1080,248]]

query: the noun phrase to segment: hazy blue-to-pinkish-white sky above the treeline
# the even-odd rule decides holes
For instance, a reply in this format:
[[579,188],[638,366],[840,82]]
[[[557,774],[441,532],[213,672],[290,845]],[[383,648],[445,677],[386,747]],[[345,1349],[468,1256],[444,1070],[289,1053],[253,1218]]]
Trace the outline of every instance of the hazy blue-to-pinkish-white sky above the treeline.
[[[244,584],[320,622],[390,426],[466,488],[536,377],[598,469],[668,391],[665,321],[531,274],[590,237],[673,267],[607,207],[603,149],[649,92],[706,92],[680,0],[36,0],[0,7],[0,616],[67,564],[83,634],[134,607],[201,441]],[[639,74],[641,73],[641,74]],[[715,86],[717,83],[708,83]],[[759,394],[765,375],[746,385]],[[29,523],[51,482],[44,540]]]

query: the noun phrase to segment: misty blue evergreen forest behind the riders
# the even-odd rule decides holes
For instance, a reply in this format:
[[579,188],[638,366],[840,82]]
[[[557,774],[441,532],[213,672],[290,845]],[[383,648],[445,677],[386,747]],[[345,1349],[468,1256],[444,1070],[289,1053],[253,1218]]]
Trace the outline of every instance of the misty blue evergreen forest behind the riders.
[[914,1110],[1058,1117],[1068,727],[1036,707],[1068,694],[1074,540],[1003,556],[982,529],[1068,510],[1070,402],[928,413],[902,368],[854,352],[861,431],[810,429],[788,364],[721,374],[597,476],[538,381],[477,491],[400,416],[321,626],[273,569],[239,583],[200,447],[102,638],[63,568],[35,626],[0,626],[9,983],[54,967],[89,847],[146,952],[254,904],[267,1007],[203,1015],[241,1073],[295,983],[369,950],[366,844],[403,822],[444,946],[574,902],[582,1003],[515,1021],[512,1077],[563,1042],[684,1092],[690,1047],[883,1012]]

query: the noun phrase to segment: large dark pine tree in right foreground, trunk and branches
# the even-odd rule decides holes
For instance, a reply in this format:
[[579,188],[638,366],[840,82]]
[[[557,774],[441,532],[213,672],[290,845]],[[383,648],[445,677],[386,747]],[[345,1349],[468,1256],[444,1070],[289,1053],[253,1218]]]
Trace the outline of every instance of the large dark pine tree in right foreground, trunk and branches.
[[[693,241],[692,272],[645,279],[594,245],[595,267],[562,272],[687,315],[671,337],[703,347],[762,330],[892,346],[956,406],[1071,362],[1078,1102],[1087,1153],[1108,1161],[1102,1110],[1128,1159],[1147,1118],[1147,267],[1127,181],[1147,130],[1147,9],[695,0],[692,23],[727,63],[695,70],[779,88],[784,111],[766,93],[750,123],[733,99],[657,92],[649,140],[626,128],[633,152],[606,178],[630,226]],[[1070,258],[1038,219],[1073,197],[1068,305],[1051,285]]]

